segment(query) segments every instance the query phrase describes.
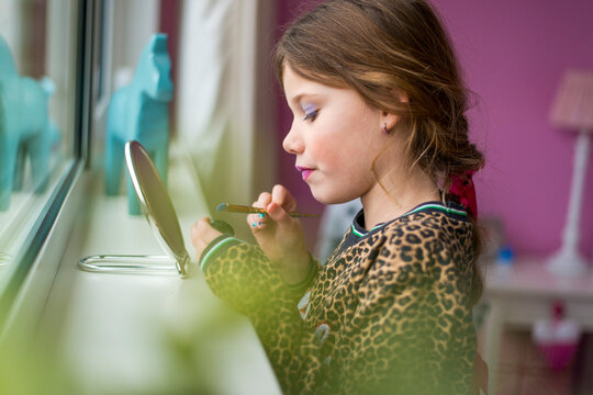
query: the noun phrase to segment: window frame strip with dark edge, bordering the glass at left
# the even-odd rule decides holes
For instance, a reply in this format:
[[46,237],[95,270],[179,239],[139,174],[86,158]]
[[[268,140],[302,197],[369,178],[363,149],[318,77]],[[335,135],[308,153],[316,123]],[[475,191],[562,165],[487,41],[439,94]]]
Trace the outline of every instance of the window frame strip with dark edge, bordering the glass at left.
[[42,258],[47,255],[47,249],[60,249],[60,246],[57,245],[49,246],[49,238],[56,230],[67,230],[71,227],[74,215],[66,216],[70,217],[69,221],[61,221],[64,218],[61,214],[69,211],[72,207],[71,205],[77,207],[76,201],[80,200],[80,196],[74,196],[76,198],[74,200],[68,198],[72,195],[72,191],[77,185],[82,182],[82,170],[88,167],[94,0],[80,0],[78,7],[77,29],[79,34],[76,43],[72,158],[67,163],[33,226],[29,229],[25,241],[14,257],[13,264],[15,268],[10,273],[5,286],[0,290],[0,332],[2,337],[12,327],[14,319],[23,313],[24,306],[31,306],[31,303],[43,306],[59,267],[59,259],[56,259],[57,257],[48,260]]

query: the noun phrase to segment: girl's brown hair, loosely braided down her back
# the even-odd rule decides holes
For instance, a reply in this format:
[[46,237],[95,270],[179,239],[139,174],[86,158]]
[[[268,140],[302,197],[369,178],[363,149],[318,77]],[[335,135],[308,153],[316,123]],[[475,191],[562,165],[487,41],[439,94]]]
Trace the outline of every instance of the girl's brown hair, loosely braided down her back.
[[[355,89],[369,105],[398,114],[395,131],[409,134],[410,163],[444,191],[452,176],[483,166],[482,154],[468,139],[468,91],[452,46],[426,1],[326,1],[293,22],[278,43],[280,84],[286,63],[301,77]],[[402,92],[407,102],[400,100]],[[456,200],[450,194],[447,199]],[[482,292],[475,267],[481,232],[471,219],[477,302]]]

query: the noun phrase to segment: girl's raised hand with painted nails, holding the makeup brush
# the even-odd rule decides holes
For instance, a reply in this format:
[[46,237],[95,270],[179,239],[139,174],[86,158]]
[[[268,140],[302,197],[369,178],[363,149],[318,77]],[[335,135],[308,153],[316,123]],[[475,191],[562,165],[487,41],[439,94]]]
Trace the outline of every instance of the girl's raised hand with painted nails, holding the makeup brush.
[[268,215],[247,215],[247,224],[259,247],[278,267],[286,283],[303,281],[311,262],[301,222],[288,214],[296,211],[294,198],[284,187],[275,185],[271,193],[262,192],[253,206],[268,212]]

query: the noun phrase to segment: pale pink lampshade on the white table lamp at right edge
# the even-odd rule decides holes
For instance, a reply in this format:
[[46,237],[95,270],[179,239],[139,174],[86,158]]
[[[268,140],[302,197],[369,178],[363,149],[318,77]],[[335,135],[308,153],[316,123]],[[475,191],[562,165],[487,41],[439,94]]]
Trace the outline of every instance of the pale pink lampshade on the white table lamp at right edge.
[[568,70],[552,104],[550,122],[561,128],[593,132],[593,70]]

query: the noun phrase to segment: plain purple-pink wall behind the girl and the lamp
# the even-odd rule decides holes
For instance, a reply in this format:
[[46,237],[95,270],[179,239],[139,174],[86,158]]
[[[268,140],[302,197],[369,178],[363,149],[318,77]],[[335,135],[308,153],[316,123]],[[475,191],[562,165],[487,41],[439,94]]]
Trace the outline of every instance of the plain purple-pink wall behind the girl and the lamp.
[[[303,1],[283,1],[280,23]],[[548,255],[560,246],[575,135],[548,122],[567,68],[593,69],[593,2],[572,0],[434,0],[451,34],[468,87],[472,140],[486,155],[477,176],[481,215],[504,222],[518,253]],[[283,99],[282,99],[283,100]],[[291,115],[282,102],[280,132]],[[593,260],[593,158],[589,158],[581,216],[581,250]],[[321,210],[281,154],[279,179],[301,207]]]

